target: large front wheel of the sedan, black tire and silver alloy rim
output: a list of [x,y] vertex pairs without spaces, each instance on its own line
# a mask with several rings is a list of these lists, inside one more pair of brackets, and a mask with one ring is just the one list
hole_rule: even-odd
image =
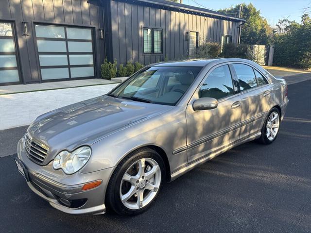
[[120,162],[112,174],[105,204],[117,214],[138,215],[157,198],[164,178],[164,162],[155,150],[135,150]]

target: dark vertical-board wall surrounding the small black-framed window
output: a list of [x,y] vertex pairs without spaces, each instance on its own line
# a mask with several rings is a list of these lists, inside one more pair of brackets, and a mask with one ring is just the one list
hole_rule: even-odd
[[[197,16],[165,9],[110,1],[112,52],[118,63],[139,61],[143,64],[182,59],[188,56],[185,33],[199,32],[199,40],[220,42],[221,35],[232,35],[232,42],[238,42],[239,22],[219,18]],[[163,50],[159,54],[143,54],[142,28],[163,29]]]

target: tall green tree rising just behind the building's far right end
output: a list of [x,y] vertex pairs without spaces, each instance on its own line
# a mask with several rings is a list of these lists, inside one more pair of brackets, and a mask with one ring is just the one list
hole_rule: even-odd
[[[240,4],[219,10],[226,14],[239,16]],[[267,45],[273,37],[273,31],[267,20],[260,16],[260,11],[252,3],[241,4],[241,18],[245,19],[242,25],[241,42],[249,45]]]

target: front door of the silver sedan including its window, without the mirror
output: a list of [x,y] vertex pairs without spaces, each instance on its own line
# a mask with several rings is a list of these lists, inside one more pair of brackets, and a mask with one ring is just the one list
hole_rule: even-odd
[[194,162],[212,152],[222,150],[239,140],[241,98],[233,88],[228,65],[214,68],[196,90],[193,100],[211,97],[218,100],[212,110],[194,111],[187,106],[188,162]]

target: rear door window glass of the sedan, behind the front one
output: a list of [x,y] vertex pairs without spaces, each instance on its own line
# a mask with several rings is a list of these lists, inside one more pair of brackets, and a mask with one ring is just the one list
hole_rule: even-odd
[[252,67],[243,64],[233,64],[238,76],[241,91],[257,87],[256,77]]

